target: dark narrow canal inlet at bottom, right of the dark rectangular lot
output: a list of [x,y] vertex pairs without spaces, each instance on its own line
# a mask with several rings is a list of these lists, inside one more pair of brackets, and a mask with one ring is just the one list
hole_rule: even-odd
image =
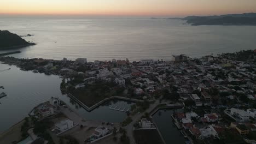
[[153,116],[153,120],[158,125],[159,131],[162,134],[166,143],[185,143],[183,135],[172,122],[172,113],[174,110],[159,110]]

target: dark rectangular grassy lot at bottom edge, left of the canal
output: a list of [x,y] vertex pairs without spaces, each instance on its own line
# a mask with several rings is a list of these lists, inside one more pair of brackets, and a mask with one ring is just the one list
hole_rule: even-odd
[[134,131],[135,141],[139,144],[163,144],[157,130],[135,130]]

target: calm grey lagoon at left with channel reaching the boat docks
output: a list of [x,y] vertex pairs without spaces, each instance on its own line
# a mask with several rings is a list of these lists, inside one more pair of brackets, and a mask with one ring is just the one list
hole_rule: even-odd
[[22,71],[15,66],[0,63],[0,70],[8,68],[11,69],[0,73],[0,86],[5,88],[0,89],[0,92],[7,93],[7,97],[0,99],[0,133],[21,121],[34,106],[51,97],[61,98],[85,119],[104,122],[121,122],[126,117],[125,112],[110,110],[109,106],[130,107],[132,105],[127,101],[112,100],[88,112],[77,104],[70,103],[71,100],[61,94],[61,79],[58,76],[35,74],[32,71]]

